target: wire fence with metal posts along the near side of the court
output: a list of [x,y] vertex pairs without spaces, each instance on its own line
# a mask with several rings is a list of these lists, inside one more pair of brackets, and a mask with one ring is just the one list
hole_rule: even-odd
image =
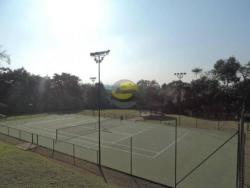
[[[242,166],[244,166],[244,159],[242,158],[242,156],[244,156],[244,130],[242,130],[241,127],[243,127],[244,129],[244,120],[241,120],[238,124],[238,130],[236,130],[234,133],[232,133],[229,137],[227,137],[226,139],[223,140],[223,142],[221,142],[219,145],[217,145],[216,148],[213,148],[210,150],[209,153],[206,153],[206,155],[204,155],[202,158],[202,160],[199,163],[196,163],[195,165],[192,166],[192,168],[188,168],[186,170],[184,170],[182,173],[180,173],[178,171],[178,167],[181,164],[178,164],[180,159],[182,158],[182,153],[180,152],[180,150],[182,150],[183,146],[178,145],[178,123],[177,123],[177,119],[175,121],[175,125],[174,125],[174,154],[173,154],[173,160],[171,161],[174,165],[173,167],[173,171],[171,171],[172,175],[171,175],[171,179],[172,182],[170,181],[169,185],[166,185],[162,182],[158,182],[156,179],[154,178],[150,178],[148,176],[144,176],[144,174],[140,174],[141,170],[138,170],[138,167],[136,167],[136,163],[138,162],[138,160],[135,160],[135,156],[133,155],[134,152],[134,148],[133,148],[133,137],[128,138],[128,142],[129,142],[129,149],[128,152],[116,152],[116,153],[112,153],[112,155],[108,155],[108,150],[106,149],[106,156],[104,155],[103,159],[101,159],[103,162],[103,166],[117,170],[119,172],[128,174],[128,175],[132,175],[138,178],[142,178],[145,180],[148,180],[150,182],[154,182],[156,184],[165,186],[165,187],[174,187],[174,188],[182,188],[182,187],[190,187],[189,184],[193,183],[194,181],[197,180],[197,173],[199,174],[199,176],[204,176],[201,179],[203,181],[211,181],[211,179],[209,179],[208,174],[204,173],[206,172],[207,169],[209,169],[209,172],[211,173],[211,171],[213,171],[212,168],[214,168],[214,166],[209,166],[209,164],[211,163],[211,159],[212,158],[216,158],[216,154],[218,154],[219,152],[222,152],[223,150],[225,150],[225,148],[227,149],[228,144],[230,142],[236,142],[237,143],[237,149],[235,150],[235,155],[237,155],[237,168],[235,169],[235,187],[237,188],[241,188],[239,186],[239,182],[244,181],[244,178],[242,176],[240,176],[240,174],[242,173]],[[17,128],[13,128],[13,127],[9,127],[6,125],[2,125],[0,124],[0,133],[8,135],[10,137],[14,137],[17,139],[20,139],[22,141],[26,141],[29,143],[33,143],[33,144],[37,144],[41,147],[50,149],[52,152],[52,156],[54,154],[54,152],[60,152],[66,155],[69,155],[70,157],[72,157],[74,164],[75,164],[75,159],[82,159],[82,160],[86,160],[88,162],[94,163],[94,164],[98,164],[98,158],[99,158],[99,151],[95,148],[92,147],[85,147],[82,146],[80,144],[73,144],[70,142],[66,142],[66,141],[60,141],[57,142],[56,139],[51,138],[51,137],[47,137],[47,136],[43,136],[43,135],[39,135],[36,133],[31,133],[28,131],[24,131],[21,129],[17,129]],[[243,134],[243,135],[242,135]],[[195,141],[195,139],[194,139]],[[185,145],[184,145],[185,146]],[[113,145],[112,147],[116,147],[115,145]],[[117,145],[117,148],[119,149],[121,146]],[[112,149],[112,148],[110,148]],[[225,154],[225,153],[223,153]],[[222,154],[222,156],[223,156]],[[120,160],[116,160],[116,162],[114,162],[114,157],[115,158],[119,158],[125,156],[126,160],[120,161]],[[221,155],[220,155],[221,156]],[[185,156],[184,156],[185,158]],[[113,162],[110,163],[110,160],[112,160]],[[233,160],[233,158],[232,158]],[[188,162],[188,161],[186,161]],[[209,163],[210,162],[210,163]],[[123,165],[121,165],[121,163]],[[181,162],[180,162],[181,163]],[[148,164],[150,165],[150,164]],[[214,164],[214,165],[218,165],[218,164]],[[242,168],[241,168],[242,167]],[[201,170],[203,169],[203,170]],[[205,169],[205,170],[204,170]],[[142,169],[143,170],[143,169]],[[199,172],[200,171],[200,172]],[[200,177],[199,177],[200,178]],[[211,177],[210,177],[211,178]],[[220,177],[217,177],[218,179]],[[229,177],[231,178],[231,177]],[[243,179],[242,179],[243,178]],[[205,180],[204,180],[205,179]],[[228,178],[226,178],[228,179]],[[201,181],[201,180],[197,180],[197,181]],[[203,182],[204,183],[204,182]],[[234,186],[233,186],[234,187]]]

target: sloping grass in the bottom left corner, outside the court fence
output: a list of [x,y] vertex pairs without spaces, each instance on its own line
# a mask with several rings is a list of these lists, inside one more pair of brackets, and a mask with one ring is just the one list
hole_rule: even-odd
[[[103,179],[0,141],[0,187],[108,188]],[[112,186],[113,187],[113,186]]]

